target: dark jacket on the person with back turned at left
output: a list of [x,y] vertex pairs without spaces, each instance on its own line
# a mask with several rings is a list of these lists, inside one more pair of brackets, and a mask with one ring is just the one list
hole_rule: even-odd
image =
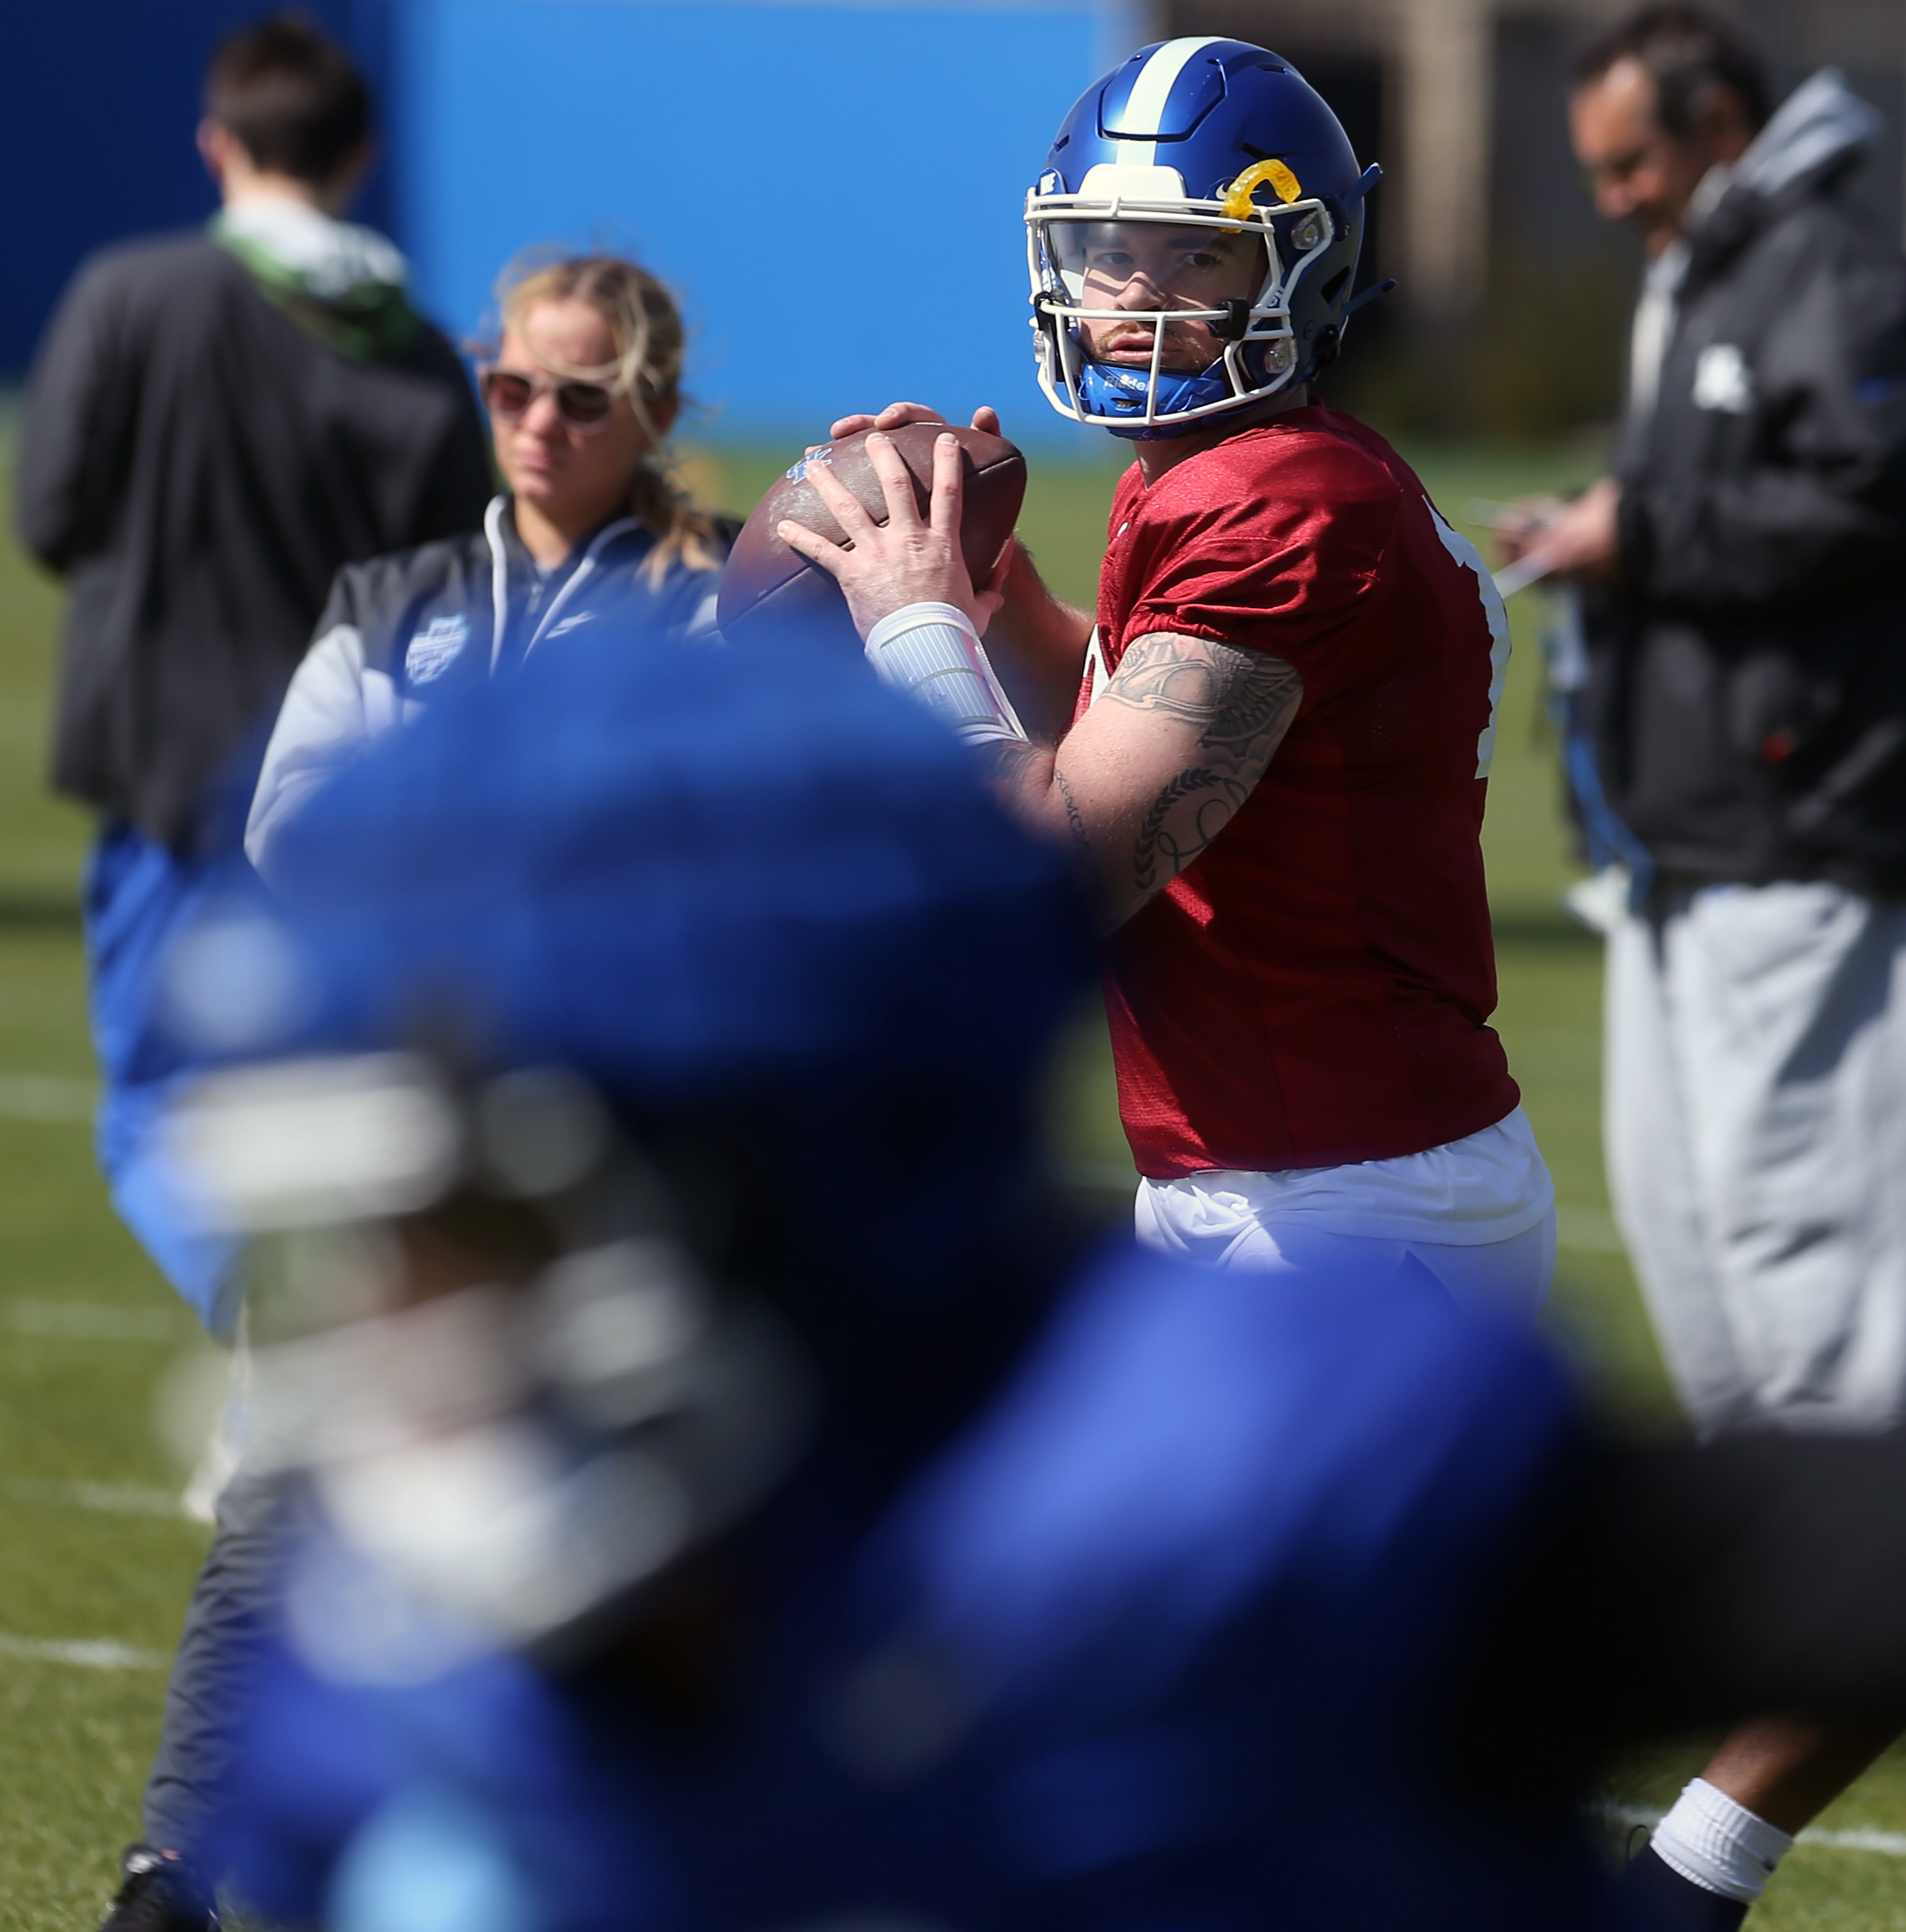
[[408,336],[346,354],[205,236],[79,272],[15,479],[21,537],[72,593],[60,790],[189,844],[215,781],[263,748],[338,568],[477,527],[470,383],[435,328]]

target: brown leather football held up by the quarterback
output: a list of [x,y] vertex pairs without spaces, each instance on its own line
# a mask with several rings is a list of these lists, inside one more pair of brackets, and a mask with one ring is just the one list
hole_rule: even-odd
[[[909,423],[905,429],[887,431],[912,475],[914,500],[922,516],[934,487],[934,439],[945,435],[947,427]],[[887,508],[880,477],[866,452],[868,435],[862,431],[841,437],[837,442],[822,444],[812,456],[802,456],[754,506],[721,574],[715,622],[723,636],[748,639],[800,628],[837,636],[843,643],[852,639],[847,603],[833,578],[791,551],[775,535],[775,526],[789,518],[833,543],[841,541],[841,526],[808,479],[816,464],[825,464],[866,506],[874,522],[885,524]],[[1026,460],[1003,437],[990,437],[980,429],[953,429],[953,435],[959,437],[965,469],[961,551],[972,582],[984,583],[1019,522],[1019,506],[1026,495]]]

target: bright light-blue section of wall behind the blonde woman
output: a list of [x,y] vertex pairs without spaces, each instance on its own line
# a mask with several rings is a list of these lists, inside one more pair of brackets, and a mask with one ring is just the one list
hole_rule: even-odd
[[1063,433],[1032,386],[1021,203],[1115,21],[1077,0],[416,0],[390,191],[418,290],[470,330],[514,249],[607,242],[684,298],[704,435],[820,433],[895,396]]

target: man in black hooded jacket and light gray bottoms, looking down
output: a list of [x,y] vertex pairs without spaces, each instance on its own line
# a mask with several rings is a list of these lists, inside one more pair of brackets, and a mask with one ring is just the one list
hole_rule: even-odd
[[[1775,108],[1734,29],[1653,6],[1570,126],[1649,265],[1612,473],[1508,549],[1581,599],[1616,1211],[1703,1434],[1896,1426],[1906,263],[1846,193],[1879,116],[1834,70]],[[1744,1725],[1635,1882],[1736,1924],[1881,1743]]]

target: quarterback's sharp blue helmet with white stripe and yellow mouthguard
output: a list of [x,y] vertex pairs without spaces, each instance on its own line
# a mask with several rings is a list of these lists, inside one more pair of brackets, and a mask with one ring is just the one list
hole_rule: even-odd
[[1378,174],[1262,46],[1141,48],[1079,99],[1026,195],[1046,400],[1158,439],[1307,383],[1343,340]]

